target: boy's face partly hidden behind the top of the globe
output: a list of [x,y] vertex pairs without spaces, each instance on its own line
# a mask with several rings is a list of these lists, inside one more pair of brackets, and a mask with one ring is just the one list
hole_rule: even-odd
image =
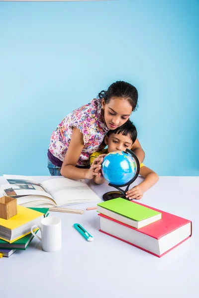
[[128,136],[123,136],[122,134],[110,134],[110,136],[105,136],[105,144],[108,146],[108,152],[111,151],[125,151],[127,148],[131,149],[133,142]]

